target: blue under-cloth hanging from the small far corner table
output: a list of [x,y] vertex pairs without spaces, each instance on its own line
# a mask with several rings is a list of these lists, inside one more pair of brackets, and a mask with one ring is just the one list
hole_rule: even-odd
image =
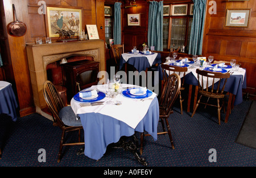
[[[133,65],[138,70],[138,72],[146,71],[147,68],[151,67],[150,63],[148,63],[147,57],[145,57],[145,56],[130,57],[129,60],[127,60],[127,62],[121,56],[119,69],[122,69],[122,67],[125,63]],[[158,55],[156,56],[154,63],[152,65],[161,64],[161,63],[162,63],[161,54],[158,53]]]

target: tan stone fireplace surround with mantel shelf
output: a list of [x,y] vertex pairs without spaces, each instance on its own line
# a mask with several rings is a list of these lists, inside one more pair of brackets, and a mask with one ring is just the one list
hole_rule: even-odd
[[100,71],[106,71],[104,40],[85,40],[68,43],[27,44],[28,67],[30,70],[36,112],[46,107],[43,84],[47,80],[47,64],[71,55],[93,56],[100,62]]

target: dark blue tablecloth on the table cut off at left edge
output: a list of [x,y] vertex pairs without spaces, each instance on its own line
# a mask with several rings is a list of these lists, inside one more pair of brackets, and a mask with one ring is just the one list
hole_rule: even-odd
[[[5,82],[5,81],[0,81]],[[9,83],[5,88],[0,90],[0,114],[7,114],[15,122],[17,119],[16,108],[18,104],[16,102],[13,88]]]

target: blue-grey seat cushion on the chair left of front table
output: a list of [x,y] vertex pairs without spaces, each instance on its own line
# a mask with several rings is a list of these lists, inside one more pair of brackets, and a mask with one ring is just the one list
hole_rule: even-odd
[[76,119],[76,114],[71,106],[65,106],[60,110],[59,117],[67,126],[82,126],[81,120]]

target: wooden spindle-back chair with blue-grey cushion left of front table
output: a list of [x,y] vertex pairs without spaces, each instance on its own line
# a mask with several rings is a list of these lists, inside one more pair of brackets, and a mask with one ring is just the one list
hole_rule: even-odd
[[[76,115],[73,112],[71,106],[64,106],[63,101],[61,100],[60,94],[57,92],[57,89],[52,84],[51,81],[44,82],[43,86],[44,100],[49,110],[52,113],[53,126],[59,126],[62,130],[61,140],[60,140],[60,150],[57,162],[60,162],[61,151],[63,146],[71,145],[84,145],[84,142],[80,142],[80,135],[82,130],[82,124],[80,119],[76,119]],[[69,131],[79,131],[79,142],[77,143],[63,143],[65,133]]]

